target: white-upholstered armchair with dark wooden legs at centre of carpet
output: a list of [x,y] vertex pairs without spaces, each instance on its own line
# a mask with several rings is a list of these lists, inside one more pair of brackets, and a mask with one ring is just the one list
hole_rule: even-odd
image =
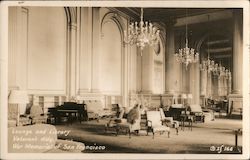
[[156,132],[160,132],[162,134],[163,132],[168,132],[168,137],[170,135],[170,128],[163,125],[160,111],[147,111],[147,134],[148,132],[153,132],[153,138],[154,134]]

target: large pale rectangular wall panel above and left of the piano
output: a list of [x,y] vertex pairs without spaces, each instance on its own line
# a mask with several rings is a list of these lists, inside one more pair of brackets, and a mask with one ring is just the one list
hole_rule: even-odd
[[29,8],[27,67],[29,90],[65,93],[66,33],[63,8]]

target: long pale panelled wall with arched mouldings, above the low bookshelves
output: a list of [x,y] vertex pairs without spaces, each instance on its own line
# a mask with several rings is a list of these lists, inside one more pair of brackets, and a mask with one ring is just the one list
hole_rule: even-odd
[[[23,10],[17,7],[13,11],[12,14],[17,15],[12,16],[10,22],[13,26],[10,57],[19,54],[22,60],[10,59],[10,84],[23,84],[19,86],[37,95],[71,95],[74,92],[97,98],[116,96],[121,99],[122,96],[123,104],[128,102],[129,93],[141,90],[160,93],[163,83],[157,82],[164,78],[163,64],[155,70],[153,67],[154,60],[163,62],[163,53],[154,58],[153,48],[145,47],[141,57],[136,46],[123,43],[128,17],[107,8],[84,7],[77,11],[78,21],[74,26],[68,26],[70,29],[75,27],[71,34],[62,7],[28,7]],[[19,21],[18,16],[22,17]],[[16,30],[26,32],[17,34]],[[77,38],[72,39],[72,34]],[[20,50],[22,52],[18,52]],[[76,56],[68,55],[73,54],[72,51]],[[142,71],[141,63],[138,63],[141,58]],[[72,70],[72,67],[76,69]],[[159,85],[157,89],[153,88],[154,83]],[[70,93],[66,93],[68,90]]]

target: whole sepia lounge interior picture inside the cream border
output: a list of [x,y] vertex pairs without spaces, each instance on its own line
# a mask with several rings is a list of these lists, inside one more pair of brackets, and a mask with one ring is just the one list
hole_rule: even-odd
[[8,152],[242,154],[243,13],[9,6]]

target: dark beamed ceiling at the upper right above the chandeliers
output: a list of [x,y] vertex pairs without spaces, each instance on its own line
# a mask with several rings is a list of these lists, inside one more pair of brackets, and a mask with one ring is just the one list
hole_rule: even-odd
[[[117,10],[139,21],[141,8],[119,7]],[[207,43],[210,44],[210,56],[217,62],[231,68],[232,61],[232,17],[231,8],[143,8],[144,20],[168,25],[174,22],[176,34],[185,36],[188,24],[191,38],[201,39],[208,32],[210,40],[202,45],[202,57],[207,57]],[[208,18],[209,17],[209,18]],[[134,21],[132,20],[132,21]],[[227,34],[223,36],[222,32]],[[225,32],[226,31],[226,32]],[[218,33],[218,34],[217,34]],[[178,35],[176,35],[178,37]],[[217,37],[217,38],[216,38]]]

